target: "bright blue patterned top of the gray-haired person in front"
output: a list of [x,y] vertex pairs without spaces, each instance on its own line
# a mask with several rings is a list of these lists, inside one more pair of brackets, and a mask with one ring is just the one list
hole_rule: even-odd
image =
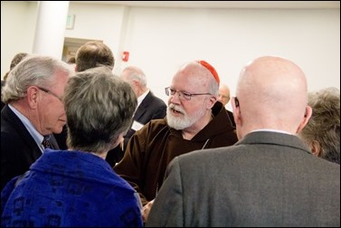
[[45,149],[1,193],[1,226],[143,227],[136,191],[100,157]]

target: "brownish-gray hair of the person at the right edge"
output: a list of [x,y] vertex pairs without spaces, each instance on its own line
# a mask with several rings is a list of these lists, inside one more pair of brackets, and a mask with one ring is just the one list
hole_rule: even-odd
[[313,113],[300,138],[307,144],[316,140],[319,157],[340,164],[340,90],[329,87],[308,93]]

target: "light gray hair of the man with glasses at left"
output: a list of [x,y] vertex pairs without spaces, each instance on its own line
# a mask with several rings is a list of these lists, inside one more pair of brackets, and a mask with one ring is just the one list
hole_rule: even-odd
[[50,56],[28,55],[9,72],[1,99],[4,103],[21,100],[26,96],[30,86],[52,86],[55,71],[73,73],[71,66],[66,62]]

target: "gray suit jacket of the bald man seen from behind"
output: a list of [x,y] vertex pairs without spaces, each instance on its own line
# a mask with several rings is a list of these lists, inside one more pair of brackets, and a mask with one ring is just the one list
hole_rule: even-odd
[[170,163],[147,226],[340,226],[340,166],[301,141],[252,132]]

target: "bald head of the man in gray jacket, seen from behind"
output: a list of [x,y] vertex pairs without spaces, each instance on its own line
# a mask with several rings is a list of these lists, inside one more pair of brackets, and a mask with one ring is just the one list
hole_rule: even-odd
[[311,114],[307,93],[305,74],[294,62],[274,56],[252,61],[242,69],[236,90],[243,135],[260,128],[298,133]]

